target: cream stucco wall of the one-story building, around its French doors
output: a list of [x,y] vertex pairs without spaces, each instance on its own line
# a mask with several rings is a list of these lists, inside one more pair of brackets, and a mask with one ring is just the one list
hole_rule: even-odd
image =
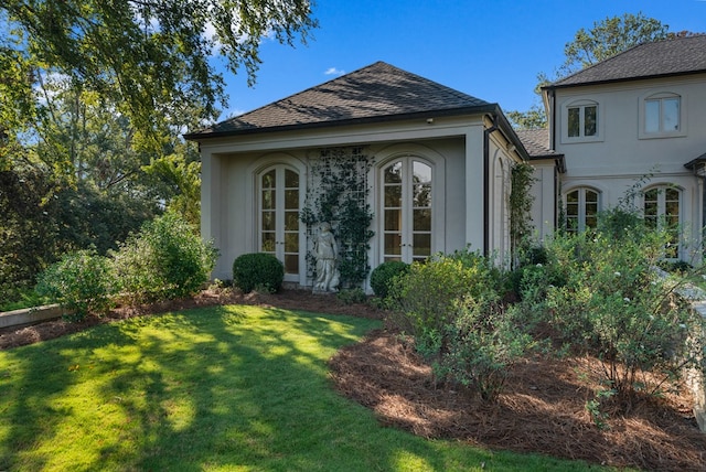
[[[335,131],[335,133],[333,132]],[[256,179],[258,169],[284,163],[300,172],[300,199],[306,197],[307,174],[312,159],[322,148],[365,146],[374,159],[368,175],[370,205],[375,215],[382,210],[381,168],[391,160],[415,155],[434,170],[432,253],[453,251],[471,245],[482,249],[483,232],[483,125],[481,117],[463,120],[438,119],[395,124],[383,132],[379,126],[314,131],[309,133],[268,133],[202,142],[202,236],[214,239],[221,258],[212,275],[231,279],[233,260],[240,254],[257,250]],[[395,139],[399,138],[399,139]],[[505,255],[509,250],[509,213],[505,210],[510,189],[512,150],[501,137],[491,137],[490,250]],[[382,226],[374,223],[376,236],[371,240],[370,262],[381,262]],[[301,229],[302,234],[303,228]],[[307,246],[306,235],[303,245]],[[303,255],[302,255],[303,259]],[[300,278],[301,285],[310,281]]]

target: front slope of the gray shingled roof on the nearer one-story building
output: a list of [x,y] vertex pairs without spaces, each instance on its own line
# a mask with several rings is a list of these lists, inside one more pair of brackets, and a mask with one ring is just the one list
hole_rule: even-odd
[[185,138],[395,119],[425,112],[454,115],[495,107],[495,104],[376,62]]

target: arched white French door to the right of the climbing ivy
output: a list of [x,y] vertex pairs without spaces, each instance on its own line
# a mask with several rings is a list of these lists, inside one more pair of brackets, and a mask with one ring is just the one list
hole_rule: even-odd
[[383,168],[383,261],[431,256],[431,167],[414,157]]

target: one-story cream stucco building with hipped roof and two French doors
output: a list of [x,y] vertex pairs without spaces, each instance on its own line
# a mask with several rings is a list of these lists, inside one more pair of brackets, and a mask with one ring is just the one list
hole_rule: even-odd
[[202,236],[221,250],[214,278],[265,251],[282,260],[286,281],[310,287],[322,223],[311,207],[325,214],[318,192],[331,183],[321,169],[345,161],[365,174],[346,199],[371,211],[367,267],[468,246],[509,257],[511,169],[528,154],[498,104],[377,62],[185,138],[201,150]]

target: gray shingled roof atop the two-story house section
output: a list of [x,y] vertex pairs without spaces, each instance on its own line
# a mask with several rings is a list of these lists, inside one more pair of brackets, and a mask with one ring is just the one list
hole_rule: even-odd
[[545,88],[706,73],[706,35],[644,43]]

